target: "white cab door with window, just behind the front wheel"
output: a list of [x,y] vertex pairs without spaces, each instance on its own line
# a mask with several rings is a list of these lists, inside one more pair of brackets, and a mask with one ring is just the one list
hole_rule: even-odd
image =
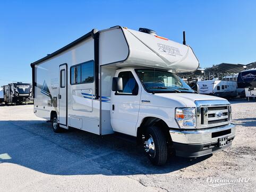
[[111,94],[111,125],[115,132],[136,136],[140,109],[140,89],[131,71],[120,72],[123,91]]

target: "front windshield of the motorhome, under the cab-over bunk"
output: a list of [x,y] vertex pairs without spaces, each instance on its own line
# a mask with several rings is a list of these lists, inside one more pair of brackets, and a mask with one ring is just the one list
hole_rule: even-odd
[[194,93],[190,86],[174,73],[154,69],[136,69],[135,71],[148,92]]

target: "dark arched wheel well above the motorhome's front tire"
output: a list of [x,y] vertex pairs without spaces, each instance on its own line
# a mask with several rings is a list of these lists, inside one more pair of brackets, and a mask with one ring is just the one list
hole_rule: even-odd
[[140,127],[137,129],[137,142],[141,143],[143,141],[142,135],[146,133],[147,127],[156,126],[165,134],[168,143],[172,141],[169,134],[169,127],[164,120],[156,117],[146,117],[143,119]]

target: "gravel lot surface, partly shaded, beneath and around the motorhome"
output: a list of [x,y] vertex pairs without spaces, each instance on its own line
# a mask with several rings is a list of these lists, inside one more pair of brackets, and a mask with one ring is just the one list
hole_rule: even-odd
[[[0,107],[0,191],[253,191],[256,102],[232,107],[231,147],[202,158],[173,157],[164,167],[153,167],[135,143],[76,129],[56,134],[31,105]],[[250,180],[210,186],[208,177]]]

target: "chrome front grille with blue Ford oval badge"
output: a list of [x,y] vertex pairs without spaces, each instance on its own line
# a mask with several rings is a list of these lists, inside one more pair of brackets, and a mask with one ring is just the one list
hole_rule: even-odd
[[197,128],[217,127],[231,123],[231,106],[226,100],[195,101]]

